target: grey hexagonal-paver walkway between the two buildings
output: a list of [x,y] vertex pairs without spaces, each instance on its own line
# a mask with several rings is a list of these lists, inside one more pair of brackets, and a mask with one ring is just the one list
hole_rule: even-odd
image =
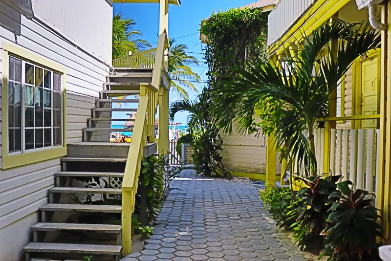
[[306,261],[278,232],[250,184],[183,171],[156,220],[145,250],[122,261]]

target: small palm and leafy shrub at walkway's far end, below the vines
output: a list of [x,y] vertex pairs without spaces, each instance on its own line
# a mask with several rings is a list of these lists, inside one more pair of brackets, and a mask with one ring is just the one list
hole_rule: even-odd
[[210,97],[208,89],[203,88],[195,102],[189,100],[173,102],[170,118],[173,120],[175,113],[180,111],[189,112],[188,126],[192,135],[193,162],[197,174],[231,178],[231,174],[222,164],[219,153],[222,150],[222,139],[218,134],[216,123],[212,121],[209,114]]

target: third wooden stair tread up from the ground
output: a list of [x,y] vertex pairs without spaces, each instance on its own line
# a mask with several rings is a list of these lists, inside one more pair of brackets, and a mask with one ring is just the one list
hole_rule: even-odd
[[44,204],[41,211],[69,211],[69,212],[102,212],[102,213],[121,213],[122,206],[112,205],[84,205],[84,204]]

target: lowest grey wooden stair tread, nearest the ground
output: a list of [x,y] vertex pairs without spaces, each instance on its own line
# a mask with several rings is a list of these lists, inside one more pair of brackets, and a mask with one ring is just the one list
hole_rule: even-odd
[[23,247],[23,250],[27,252],[41,253],[74,253],[117,256],[121,254],[122,246],[62,243],[29,243],[28,245]]

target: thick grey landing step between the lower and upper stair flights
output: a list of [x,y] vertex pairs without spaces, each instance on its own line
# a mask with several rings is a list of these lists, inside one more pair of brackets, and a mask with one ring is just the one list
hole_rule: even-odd
[[[115,129],[117,130],[117,129]],[[131,143],[127,142],[78,142],[67,144],[70,157],[127,158]]]

